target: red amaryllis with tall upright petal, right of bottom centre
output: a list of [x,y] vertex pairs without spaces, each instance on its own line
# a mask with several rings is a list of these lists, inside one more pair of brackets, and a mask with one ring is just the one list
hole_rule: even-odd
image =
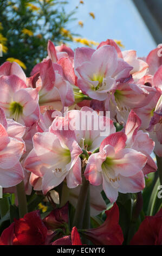
[[105,211],[106,221],[98,228],[85,229],[82,234],[94,245],[122,245],[124,237],[119,225],[119,209],[114,203],[110,210]]

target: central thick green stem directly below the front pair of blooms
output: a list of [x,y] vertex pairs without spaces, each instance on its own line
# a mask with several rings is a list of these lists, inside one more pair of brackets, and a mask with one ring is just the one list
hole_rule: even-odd
[[87,181],[85,176],[83,176],[82,186],[80,189],[79,198],[77,200],[76,211],[75,211],[74,222],[73,222],[73,227],[77,227],[78,229],[82,229],[88,191],[89,191],[89,181]]

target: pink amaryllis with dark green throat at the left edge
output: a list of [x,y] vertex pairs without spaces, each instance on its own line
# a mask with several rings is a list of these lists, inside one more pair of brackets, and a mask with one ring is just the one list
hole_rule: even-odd
[[1,76],[0,84],[0,107],[6,117],[25,126],[35,123],[40,116],[37,90],[27,88],[15,75]]

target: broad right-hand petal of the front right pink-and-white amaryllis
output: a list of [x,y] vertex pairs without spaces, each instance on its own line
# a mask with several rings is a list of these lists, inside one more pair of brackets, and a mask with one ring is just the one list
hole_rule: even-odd
[[115,175],[133,176],[140,172],[147,162],[147,156],[134,149],[121,149],[113,160]]

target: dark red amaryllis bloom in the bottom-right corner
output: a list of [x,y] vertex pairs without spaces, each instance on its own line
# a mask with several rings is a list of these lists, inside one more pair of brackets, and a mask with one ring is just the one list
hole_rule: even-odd
[[145,217],[131,245],[162,245],[162,208],[155,216]]

